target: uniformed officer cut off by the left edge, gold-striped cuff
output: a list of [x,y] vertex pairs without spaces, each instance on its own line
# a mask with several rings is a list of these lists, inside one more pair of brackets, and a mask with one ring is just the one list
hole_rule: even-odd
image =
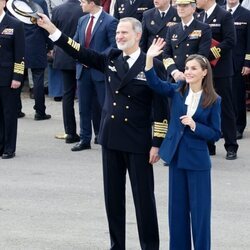
[[24,29],[20,21],[4,12],[0,1],[0,156],[15,156],[18,88],[24,75]]

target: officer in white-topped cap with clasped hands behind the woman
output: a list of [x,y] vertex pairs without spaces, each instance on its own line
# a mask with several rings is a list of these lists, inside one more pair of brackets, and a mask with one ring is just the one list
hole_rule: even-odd
[[195,0],[177,0],[176,4],[181,22],[169,27],[163,52],[163,63],[170,81],[185,79],[183,72],[189,55],[209,55],[212,37],[209,25],[194,19]]

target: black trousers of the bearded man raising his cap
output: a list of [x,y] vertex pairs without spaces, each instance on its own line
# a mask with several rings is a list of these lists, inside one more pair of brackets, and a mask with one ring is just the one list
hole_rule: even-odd
[[159,249],[154,196],[154,176],[149,154],[134,154],[102,148],[104,195],[112,250],[125,250],[125,184],[128,171],[140,245],[142,250]]

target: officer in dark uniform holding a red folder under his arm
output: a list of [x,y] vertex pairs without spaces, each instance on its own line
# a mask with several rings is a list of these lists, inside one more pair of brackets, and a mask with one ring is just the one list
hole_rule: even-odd
[[[213,65],[213,79],[217,93],[221,96],[221,130],[225,139],[226,159],[237,158],[236,119],[232,100],[233,58],[236,32],[231,13],[216,4],[215,0],[197,0],[197,7],[204,9],[197,19],[210,25],[213,45],[208,59]],[[217,62],[217,63],[216,63]],[[210,155],[216,154],[213,142],[208,144]]]

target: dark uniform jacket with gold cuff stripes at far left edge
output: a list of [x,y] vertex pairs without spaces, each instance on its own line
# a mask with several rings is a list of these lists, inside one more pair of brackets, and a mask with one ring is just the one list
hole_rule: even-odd
[[24,48],[23,24],[5,14],[0,23],[0,86],[23,80]]

